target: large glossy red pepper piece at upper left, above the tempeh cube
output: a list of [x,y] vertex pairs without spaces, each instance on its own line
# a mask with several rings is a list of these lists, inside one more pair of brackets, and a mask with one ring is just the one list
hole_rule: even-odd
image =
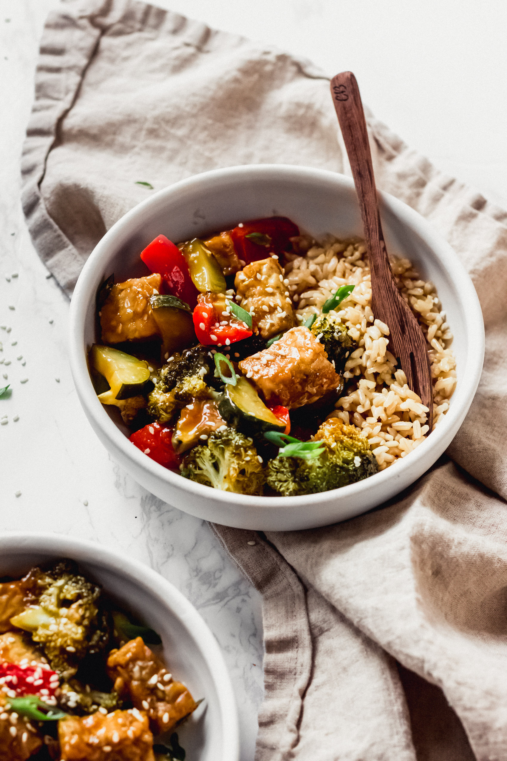
[[198,290],[190,277],[185,256],[165,235],[158,235],[141,253],[141,259],[151,272],[162,276],[168,293],[181,298],[193,309]]

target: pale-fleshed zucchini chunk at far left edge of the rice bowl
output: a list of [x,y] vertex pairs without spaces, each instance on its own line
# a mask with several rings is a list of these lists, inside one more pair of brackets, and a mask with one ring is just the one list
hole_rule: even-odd
[[111,346],[94,343],[90,349],[90,365],[109,384],[109,390],[98,396],[103,404],[116,404],[131,396],[140,396],[154,387],[147,362]]

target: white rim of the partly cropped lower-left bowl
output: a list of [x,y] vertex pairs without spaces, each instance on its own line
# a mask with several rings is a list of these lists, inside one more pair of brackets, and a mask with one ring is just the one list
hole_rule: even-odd
[[239,759],[239,719],[233,686],[222,652],[211,629],[198,610],[176,587],[143,562],[123,555],[115,549],[90,540],[74,539],[57,533],[5,532],[0,534],[0,555],[5,552],[46,552],[70,557],[76,562],[90,562],[107,571],[128,578],[142,591],[156,597],[162,606],[169,608],[192,637],[208,665],[217,690],[217,703],[222,728],[223,761]]

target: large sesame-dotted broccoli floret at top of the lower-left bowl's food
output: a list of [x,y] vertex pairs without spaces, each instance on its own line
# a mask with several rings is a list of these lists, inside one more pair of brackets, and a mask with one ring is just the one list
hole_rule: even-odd
[[99,602],[101,588],[78,575],[72,562],[60,562],[47,571],[34,568],[30,576],[36,581],[36,597],[11,624],[30,632],[52,669],[68,680],[87,654],[103,652],[109,642],[108,618]]

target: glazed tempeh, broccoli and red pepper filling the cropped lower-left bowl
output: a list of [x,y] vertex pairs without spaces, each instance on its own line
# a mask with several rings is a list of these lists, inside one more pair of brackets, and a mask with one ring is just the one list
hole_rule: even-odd
[[169,733],[198,702],[160,642],[71,560],[2,579],[0,759],[183,761]]

